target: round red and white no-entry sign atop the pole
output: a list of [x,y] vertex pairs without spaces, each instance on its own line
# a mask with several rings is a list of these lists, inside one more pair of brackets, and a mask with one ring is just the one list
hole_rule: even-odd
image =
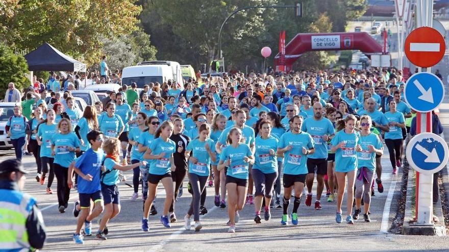
[[407,59],[418,67],[431,67],[444,57],[446,44],[443,36],[432,27],[413,30],[404,44]]

